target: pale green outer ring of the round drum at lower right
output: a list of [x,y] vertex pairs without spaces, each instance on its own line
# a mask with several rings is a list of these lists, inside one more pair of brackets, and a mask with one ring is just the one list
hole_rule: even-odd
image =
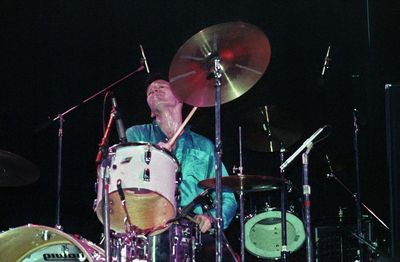
[[[258,222],[265,218],[281,218],[281,211],[264,211],[260,214],[256,214],[252,218],[250,218],[246,223],[245,223],[245,246],[246,249],[257,256],[262,256],[265,258],[276,258],[281,255],[280,251],[266,251],[263,250],[253,244],[249,240],[250,238],[250,230],[251,228],[256,225]],[[294,228],[296,229],[296,235],[298,238],[293,241],[291,244],[288,244],[288,250],[290,252],[294,252],[298,250],[303,242],[305,241],[306,235],[305,235],[305,230],[304,230],[304,224],[303,222],[295,215],[286,212],[286,222],[291,223]]]

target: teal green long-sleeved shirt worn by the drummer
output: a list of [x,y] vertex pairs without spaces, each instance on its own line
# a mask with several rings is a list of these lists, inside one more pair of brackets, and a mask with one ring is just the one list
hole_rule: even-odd
[[[126,130],[128,142],[167,142],[167,137],[161,128],[152,124],[132,126]],[[215,148],[214,144],[204,136],[196,134],[189,128],[185,128],[183,134],[176,142],[176,149],[172,154],[181,165],[182,181],[179,184],[181,194],[178,206],[188,205],[196,196],[204,191],[198,182],[215,178]],[[222,175],[228,176],[228,172],[222,165]],[[215,197],[215,194],[213,194]],[[227,228],[236,214],[237,203],[233,193],[222,193],[222,219],[224,229]],[[196,207],[194,213],[201,214],[201,207]],[[211,213],[215,216],[215,210]]]

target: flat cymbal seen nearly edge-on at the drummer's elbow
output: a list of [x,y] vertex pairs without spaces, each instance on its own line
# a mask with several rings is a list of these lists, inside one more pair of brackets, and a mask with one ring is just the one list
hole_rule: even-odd
[[[257,192],[278,189],[280,185],[288,183],[287,180],[269,176],[224,176],[221,178],[222,190],[229,192]],[[209,178],[198,183],[203,188],[215,188],[216,179]]]

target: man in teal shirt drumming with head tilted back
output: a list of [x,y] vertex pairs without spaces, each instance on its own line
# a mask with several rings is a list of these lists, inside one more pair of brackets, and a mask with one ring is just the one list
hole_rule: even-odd
[[[147,81],[147,104],[151,110],[153,122],[136,125],[127,129],[128,142],[145,141],[157,144],[169,150],[179,161],[182,169],[182,181],[179,184],[179,207],[188,205],[196,196],[203,192],[198,182],[215,177],[215,150],[213,143],[193,131],[189,127],[180,134],[176,143],[169,146],[168,140],[174,136],[182,124],[183,103],[175,97],[167,78],[161,74],[149,77]],[[222,175],[227,176],[222,165]],[[222,219],[226,229],[235,216],[237,203],[233,193],[222,194]],[[203,214],[202,208],[194,208],[194,218],[201,230],[207,232],[213,224],[213,218]],[[215,217],[215,210],[211,211]]]

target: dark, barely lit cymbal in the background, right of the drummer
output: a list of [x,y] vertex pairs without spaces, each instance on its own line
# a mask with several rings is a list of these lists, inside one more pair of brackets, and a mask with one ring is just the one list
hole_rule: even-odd
[[258,152],[276,152],[296,143],[302,134],[301,119],[295,110],[282,106],[261,106],[241,119],[243,146]]

